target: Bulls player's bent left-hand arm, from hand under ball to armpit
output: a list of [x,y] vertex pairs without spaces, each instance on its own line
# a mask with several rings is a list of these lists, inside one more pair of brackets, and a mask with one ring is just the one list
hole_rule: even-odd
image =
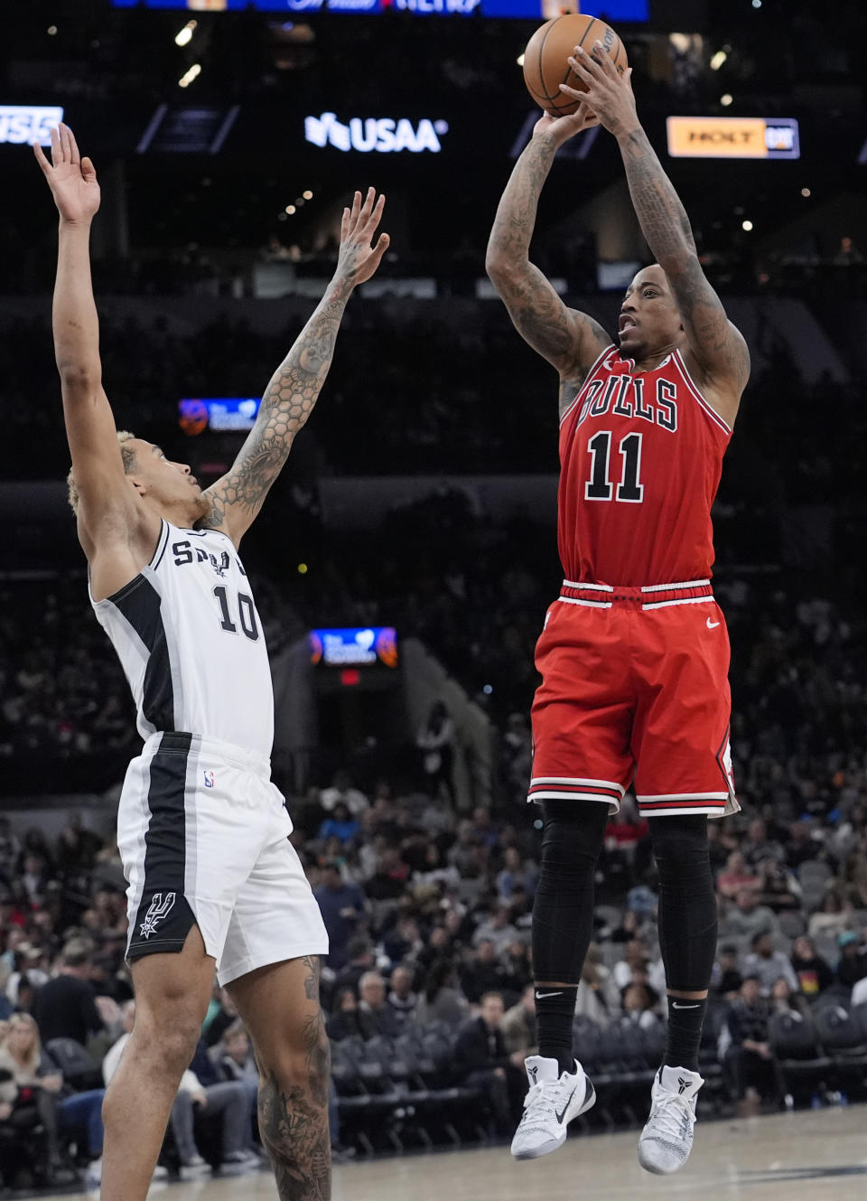
[[515,163],[488,241],[485,267],[521,337],[555,366],[561,380],[561,412],[611,339],[586,313],[567,309],[538,267],[530,262],[542,187],[558,148],[598,124],[579,109],[570,116],[543,116]]

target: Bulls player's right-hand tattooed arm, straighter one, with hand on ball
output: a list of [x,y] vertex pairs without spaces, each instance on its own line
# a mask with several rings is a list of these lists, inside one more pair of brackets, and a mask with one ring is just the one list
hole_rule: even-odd
[[[597,48],[602,50],[598,43]],[[723,407],[730,413],[734,405],[736,411],[749,377],[747,343],[705,277],[689,219],[638,119],[632,70],[620,76],[608,54],[599,53],[597,60],[580,47],[569,65],[587,84],[587,103],[617,138],[641,233],[671,285],[699,372]],[[561,88],[572,96],[585,95]]]

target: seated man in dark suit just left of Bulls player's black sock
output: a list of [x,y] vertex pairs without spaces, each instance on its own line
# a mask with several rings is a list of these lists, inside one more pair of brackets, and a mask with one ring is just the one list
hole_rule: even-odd
[[478,1017],[464,1023],[454,1050],[458,1078],[467,1088],[482,1089],[500,1135],[512,1133],[526,1089],[524,1052],[508,1053],[500,1029],[502,1020],[502,996],[486,992]]

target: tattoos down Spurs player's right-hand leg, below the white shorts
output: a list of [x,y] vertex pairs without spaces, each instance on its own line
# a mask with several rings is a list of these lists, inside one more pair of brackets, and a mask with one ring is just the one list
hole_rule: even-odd
[[305,956],[304,994],[315,1012],[304,1018],[307,1085],[281,1087],[273,1071],[259,1083],[259,1134],[274,1165],[280,1201],[329,1201],[331,1159],[328,1130],[330,1056],[319,1009],[319,958]]

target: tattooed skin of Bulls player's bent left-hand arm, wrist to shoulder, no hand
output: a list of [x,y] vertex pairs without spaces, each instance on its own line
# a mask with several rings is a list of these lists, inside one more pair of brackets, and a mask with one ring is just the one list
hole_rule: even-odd
[[534,138],[515,163],[497,207],[488,243],[488,264],[515,329],[557,370],[572,374],[580,372],[576,360],[585,323],[599,346],[609,339],[592,318],[567,309],[528,258],[539,196],[554,154],[554,147]]

